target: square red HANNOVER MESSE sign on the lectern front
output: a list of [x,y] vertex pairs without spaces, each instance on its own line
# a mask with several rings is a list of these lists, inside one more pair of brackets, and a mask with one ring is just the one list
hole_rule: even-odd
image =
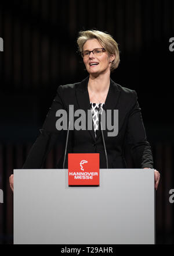
[[68,154],[69,185],[99,185],[99,153]]

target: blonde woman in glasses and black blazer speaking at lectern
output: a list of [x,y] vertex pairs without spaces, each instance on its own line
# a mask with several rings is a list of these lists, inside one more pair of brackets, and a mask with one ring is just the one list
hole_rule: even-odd
[[[70,129],[67,153],[100,153],[100,168],[126,168],[126,142],[131,148],[135,168],[153,168],[153,156],[146,139],[136,92],[110,79],[110,72],[119,64],[118,44],[109,34],[97,30],[81,31],[77,43],[89,77],[79,83],[58,87],[41,134],[32,146],[23,169],[41,168],[46,155],[60,138],[64,138],[62,143],[66,144],[67,132],[59,131],[56,125],[57,111],[66,110],[69,115],[70,106],[74,111],[84,110],[86,116],[91,110],[93,128],[90,130],[86,125],[85,129]],[[102,134],[99,117],[103,110],[112,110],[111,120],[115,117],[114,110],[118,110],[117,136],[108,136],[108,127]],[[67,167],[67,157],[65,164],[63,160],[64,153],[57,168]],[[155,170],[156,190],[159,180],[160,173]],[[13,190],[13,175],[10,176],[10,187]]]

